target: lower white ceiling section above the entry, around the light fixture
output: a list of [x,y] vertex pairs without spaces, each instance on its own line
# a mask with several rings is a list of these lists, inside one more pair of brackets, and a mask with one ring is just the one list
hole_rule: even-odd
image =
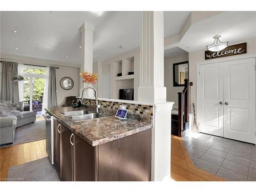
[[226,11],[192,25],[185,33],[179,46],[188,51],[205,49],[221,35],[225,42],[242,41],[256,37],[256,11]]

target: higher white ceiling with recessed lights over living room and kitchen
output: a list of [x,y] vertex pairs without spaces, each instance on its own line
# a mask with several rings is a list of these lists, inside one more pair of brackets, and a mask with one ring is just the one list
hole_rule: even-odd
[[[189,13],[165,11],[164,36],[179,33]],[[84,22],[95,26],[94,61],[110,58],[140,46],[140,12],[2,11],[1,52],[79,66],[79,27]],[[13,30],[18,33],[13,33]],[[119,48],[121,45],[124,49]]]

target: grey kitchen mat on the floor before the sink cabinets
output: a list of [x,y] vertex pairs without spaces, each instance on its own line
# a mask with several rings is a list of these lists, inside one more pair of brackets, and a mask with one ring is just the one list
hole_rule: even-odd
[[7,178],[8,181],[59,181],[48,157],[10,167]]

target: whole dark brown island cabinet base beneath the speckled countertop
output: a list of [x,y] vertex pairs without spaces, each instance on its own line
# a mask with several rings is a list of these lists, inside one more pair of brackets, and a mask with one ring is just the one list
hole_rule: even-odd
[[92,146],[55,119],[54,164],[63,181],[151,181],[151,129]]

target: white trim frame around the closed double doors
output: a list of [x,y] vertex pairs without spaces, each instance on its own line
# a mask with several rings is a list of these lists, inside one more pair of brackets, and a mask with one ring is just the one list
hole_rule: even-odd
[[[248,58],[254,58],[254,60],[255,60],[255,71],[256,71],[256,54],[222,57],[222,58],[213,59],[212,61],[211,60],[205,60],[203,62],[197,62],[197,104],[196,104],[196,110],[197,110],[196,118],[197,118],[197,120],[199,119],[199,70],[200,70],[200,66],[201,65],[207,65],[207,64],[210,64],[210,63],[225,62],[225,61],[240,60],[240,59],[248,59]],[[255,81],[256,81],[255,71],[254,71],[254,75],[255,75]],[[256,87],[256,82],[255,82],[255,87]],[[256,100],[256,93],[255,93],[255,100]],[[256,102],[255,102],[254,107],[256,109]],[[256,145],[256,126],[255,126],[255,145]]]

